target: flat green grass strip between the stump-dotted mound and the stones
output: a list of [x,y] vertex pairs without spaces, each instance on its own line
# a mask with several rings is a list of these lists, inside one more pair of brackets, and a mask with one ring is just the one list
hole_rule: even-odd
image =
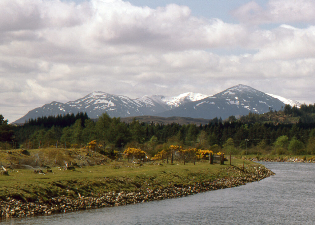
[[[229,164],[229,162],[226,164]],[[243,160],[232,160],[233,166],[243,168]],[[253,169],[256,163],[246,161]],[[216,178],[239,176],[240,170],[230,165],[209,165],[198,162],[183,164],[144,164],[108,162],[106,165],[85,166],[75,170],[52,168],[53,173],[35,174],[33,170],[8,170],[9,176],[0,175],[0,198],[14,197],[24,201],[43,200],[60,195],[93,196],[106,192],[136,192],[141,188],[161,188],[189,185]],[[45,170],[44,170],[45,172]]]

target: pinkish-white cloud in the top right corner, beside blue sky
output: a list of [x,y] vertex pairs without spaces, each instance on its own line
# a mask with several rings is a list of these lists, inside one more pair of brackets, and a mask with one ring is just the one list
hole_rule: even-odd
[[233,15],[249,24],[314,22],[314,9],[312,0],[270,0],[266,8],[251,1],[235,9]]

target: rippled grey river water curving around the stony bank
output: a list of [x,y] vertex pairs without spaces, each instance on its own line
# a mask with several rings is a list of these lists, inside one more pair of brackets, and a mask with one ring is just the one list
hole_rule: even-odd
[[315,163],[262,164],[277,175],[182,198],[2,224],[315,224]]

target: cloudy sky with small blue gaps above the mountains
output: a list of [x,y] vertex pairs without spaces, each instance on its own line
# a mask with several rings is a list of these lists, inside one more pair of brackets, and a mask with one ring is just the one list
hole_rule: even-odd
[[0,114],[94,92],[315,103],[313,0],[1,0]]

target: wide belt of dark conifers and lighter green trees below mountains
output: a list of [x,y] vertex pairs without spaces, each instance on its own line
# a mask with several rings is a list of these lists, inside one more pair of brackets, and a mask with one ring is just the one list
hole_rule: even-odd
[[206,125],[125,123],[104,113],[92,120],[86,113],[44,116],[24,125],[9,125],[0,115],[0,149],[84,148],[94,141],[95,150],[112,155],[139,148],[153,157],[170,145],[226,154],[315,154],[315,104],[301,108],[285,105],[281,111]]

